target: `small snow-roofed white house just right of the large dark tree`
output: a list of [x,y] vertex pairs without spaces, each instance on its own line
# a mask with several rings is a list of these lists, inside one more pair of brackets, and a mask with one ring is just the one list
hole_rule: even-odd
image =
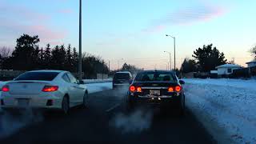
[[229,75],[233,73],[233,70],[237,70],[240,68],[242,67],[234,64],[225,64],[221,66],[216,66],[216,69],[218,70],[218,75]]

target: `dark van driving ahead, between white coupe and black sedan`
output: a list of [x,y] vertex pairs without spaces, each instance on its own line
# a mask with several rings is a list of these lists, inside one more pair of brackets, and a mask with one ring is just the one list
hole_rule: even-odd
[[122,86],[129,86],[132,82],[133,76],[129,71],[120,71],[114,74],[113,89]]

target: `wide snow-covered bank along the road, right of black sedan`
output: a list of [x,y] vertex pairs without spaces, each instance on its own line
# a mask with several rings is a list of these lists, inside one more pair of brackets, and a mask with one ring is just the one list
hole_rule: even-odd
[[186,106],[220,143],[256,143],[256,80],[185,79]]

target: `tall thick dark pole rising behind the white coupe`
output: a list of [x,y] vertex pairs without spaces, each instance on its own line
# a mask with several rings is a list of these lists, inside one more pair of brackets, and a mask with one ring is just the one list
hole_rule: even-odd
[[82,0],[79,0],[79,60],[78,60],[79,81],[82,81]]

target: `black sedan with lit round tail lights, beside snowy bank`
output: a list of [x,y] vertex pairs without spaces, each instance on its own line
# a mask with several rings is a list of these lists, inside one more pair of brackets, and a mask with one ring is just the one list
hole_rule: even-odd
[[142,104],[172,107],[183,114],[185,95],[182,84],[185,82],[178,80],[173,71],[142,71],[130,85],[127,106],[129,109]]

